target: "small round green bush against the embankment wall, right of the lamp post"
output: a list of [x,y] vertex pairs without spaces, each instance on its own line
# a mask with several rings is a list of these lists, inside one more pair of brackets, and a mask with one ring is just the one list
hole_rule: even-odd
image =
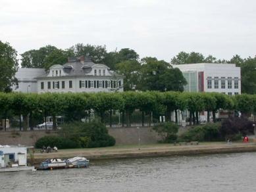
[[173,122],[165,122],[158,124],[152,128],[153,131],[157,132],[161,136],[161,142],[172,143],[177,139],[178,125]]

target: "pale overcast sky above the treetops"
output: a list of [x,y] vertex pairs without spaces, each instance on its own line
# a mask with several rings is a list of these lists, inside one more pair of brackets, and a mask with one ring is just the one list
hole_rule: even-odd
[[53,45],[106,45],[170,60],[181,51],[256,55],[255,0],[1,0],[0,41],[18,55]]

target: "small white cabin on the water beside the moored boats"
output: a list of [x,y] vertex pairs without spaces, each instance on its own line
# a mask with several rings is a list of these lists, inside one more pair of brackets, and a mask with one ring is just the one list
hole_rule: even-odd
[[26,165],[27,147],[0,145],[0,168]]

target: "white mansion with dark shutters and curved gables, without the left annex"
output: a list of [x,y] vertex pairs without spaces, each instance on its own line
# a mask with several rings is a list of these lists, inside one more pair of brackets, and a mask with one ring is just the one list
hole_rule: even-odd
[[83,57],[70,59],[64,65],[55,64],[37,80],[38,93],[123,91],[124,84],[124,76],[111,72],[104,64],[95,64]]

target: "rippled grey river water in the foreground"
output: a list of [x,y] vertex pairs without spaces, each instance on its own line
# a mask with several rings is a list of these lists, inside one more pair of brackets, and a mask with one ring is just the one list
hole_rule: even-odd
[[89,168],[0,173],[0,191],[256,191],[256,153],[91,160]]

